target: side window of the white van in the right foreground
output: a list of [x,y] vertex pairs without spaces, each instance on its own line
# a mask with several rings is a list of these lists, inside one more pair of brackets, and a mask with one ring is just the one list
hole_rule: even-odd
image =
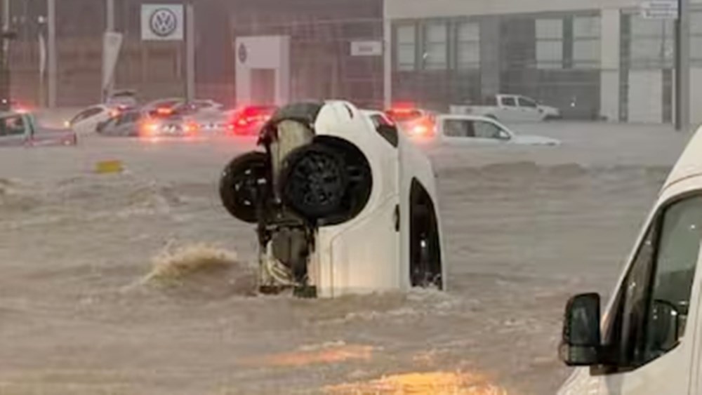
[[621,370],[643,366],[682,339],[702,238],[702,196],[654,220],[619,290],[604,345]]

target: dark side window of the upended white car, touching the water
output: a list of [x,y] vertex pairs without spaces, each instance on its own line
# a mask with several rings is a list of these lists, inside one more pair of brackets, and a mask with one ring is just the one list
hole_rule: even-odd
[[410,282],[444,288],[441,240],[434,201],[415,178],[409,192]]

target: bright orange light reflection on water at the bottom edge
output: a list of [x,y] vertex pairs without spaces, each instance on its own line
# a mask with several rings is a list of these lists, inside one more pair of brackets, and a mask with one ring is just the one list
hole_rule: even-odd
[[403,373],[370,382],[326,387],[327,394],[507,395],[484,375],[461,372]]

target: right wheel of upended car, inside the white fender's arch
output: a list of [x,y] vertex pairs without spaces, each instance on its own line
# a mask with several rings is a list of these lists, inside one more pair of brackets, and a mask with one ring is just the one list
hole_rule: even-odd
[[343,154],[333,147],[312,143],[286,156],[280,173],[283,203],[314,222],[346,211],[349,173]]

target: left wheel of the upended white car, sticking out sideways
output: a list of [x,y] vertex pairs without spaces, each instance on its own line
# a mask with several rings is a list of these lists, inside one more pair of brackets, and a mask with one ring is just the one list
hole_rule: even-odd
[[238,220],[258,222],[256,196],[258,180],[265,178],[268,160],[263,152],[249,152],[234,158],[220,178],[220,199],[227,211]]

